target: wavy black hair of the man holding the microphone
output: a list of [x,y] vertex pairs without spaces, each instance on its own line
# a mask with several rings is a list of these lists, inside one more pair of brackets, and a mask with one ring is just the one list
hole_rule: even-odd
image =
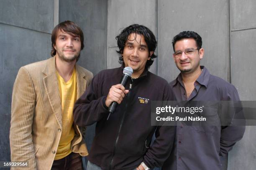
[[118,53],[118,56],[119,56],[119,63],[120,64],[123,63],[123,49],[125,47],[126,41],[128,40],[128,36],[131,33],[136,33],[136,34],[144,36],[144,39],[145,39],[145,41],[147,43],[147,46],[148,46],[148,55],[149,56],[150,56],[150,51],[153,51],[153,54],[152,54],[150,60],[148,60],[146,62],[146,66],[145,66],[145,69],[149,69],[149,67],[154,62],[153,58],[157,57],[154,54],[154,51],[156,50],[157,42],[156,42],[156,37],[154,36],[154,33],[152,33],[152,31],[149,30],[144,25],[139,25],[139,24],[130,25],[130,26],[124,28],[121,31],[121,33],[118,36],[115,37],[115,39],[117,40],[118,48],[119,48],[119,50],[116,51]]

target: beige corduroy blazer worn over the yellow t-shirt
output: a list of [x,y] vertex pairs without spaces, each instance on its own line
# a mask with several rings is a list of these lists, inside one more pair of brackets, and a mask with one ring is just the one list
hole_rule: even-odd
[[[76,67],[77,99],[84,93],[92,73]],[[71,150],[88,155],[83,134],[85,128],[74,124]],[[50,170],[62,131],[59,86],[55,57],[20,68],[13,86],[10,149],[11,160],[28,162],[21,170]]]

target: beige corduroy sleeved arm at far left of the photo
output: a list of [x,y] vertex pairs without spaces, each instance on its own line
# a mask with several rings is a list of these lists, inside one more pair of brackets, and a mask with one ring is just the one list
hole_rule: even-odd
[[[31,170],[36,169],[31,134],[35,104],[36,92],[31,76],[24,67],[21,67],[13,86],[10,151],[12,161],[28,162],[28,169]],[[21,167],[20,169],[25,170],[26,168]]]

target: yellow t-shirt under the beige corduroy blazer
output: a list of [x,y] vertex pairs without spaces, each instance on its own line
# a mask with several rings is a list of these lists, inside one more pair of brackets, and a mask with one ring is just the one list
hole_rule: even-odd
[[75,134],[73,127],[73,108],[74,103],[77,100],[77,84],[75,69],[71,78],[67,82],[65,82],[64,79],[59,75],[58,71],[56,71],[56,75],[59,83],[59,93],[61,99],[62,131],[54,160],[59,160],[72,152],[71,142]]

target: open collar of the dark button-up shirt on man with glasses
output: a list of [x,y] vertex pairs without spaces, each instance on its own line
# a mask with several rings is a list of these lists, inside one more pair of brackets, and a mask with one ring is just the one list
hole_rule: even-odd
[[[210,78],[210,72],[205,68],[205,66],[200,66],[200,69],[202,69],[202,72],[200,76],[197,78],[197,82],[201,85],[204,85],[207,88],[209,78]],[[182,82],[182,76],[181,73],[177,76],[176,81],[172,83],[172,86],[176,86],[177,83],[183,84]]]

